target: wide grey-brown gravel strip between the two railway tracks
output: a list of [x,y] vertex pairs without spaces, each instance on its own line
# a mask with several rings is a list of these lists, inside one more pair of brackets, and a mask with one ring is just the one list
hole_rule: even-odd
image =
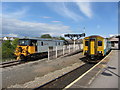
[[39,60],[2,70],[3,88],[34,88],[84,64],[82,53],[54,60]]

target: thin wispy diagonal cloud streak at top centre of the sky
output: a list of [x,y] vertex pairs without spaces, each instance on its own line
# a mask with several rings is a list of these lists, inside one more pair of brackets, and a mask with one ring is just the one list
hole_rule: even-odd
[[52,10],[54,10],[56,13],[58,13],[59,15],[61,15],[63,17],[70,18],[70,19],[72,19],[74,21],[79,21],[79,20],[82,19],[82,17],[80,15],[78,15],[77,13],[70,10],[65,5],[65,3],[63,3],[63,2],[61,2],[61,3],[49,3],[47,5]]

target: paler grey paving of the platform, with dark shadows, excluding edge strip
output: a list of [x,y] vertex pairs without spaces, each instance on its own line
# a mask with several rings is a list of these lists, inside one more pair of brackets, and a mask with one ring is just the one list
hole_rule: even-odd
[[118,75],[118,52],[120,51],[113,51],[107,67],[91,83],[90,88],[118,88],[118,78],[120,78]]

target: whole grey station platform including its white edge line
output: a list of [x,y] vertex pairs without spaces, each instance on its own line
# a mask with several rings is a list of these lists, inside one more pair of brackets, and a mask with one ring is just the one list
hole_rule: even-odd
[[74,80],[65,88],[114,88],[118,90],[118,79],[120,78],[118,74],[119,54],[119,50],[113,50],[100,63],[101,65],[96,65],[96,67]]

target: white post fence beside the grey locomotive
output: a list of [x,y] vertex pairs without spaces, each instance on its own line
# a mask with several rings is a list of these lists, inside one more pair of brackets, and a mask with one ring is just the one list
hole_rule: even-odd
[[77,50],[82,50],[83,46],[82,44],[76,44],[76,45],[64,45],[62,47],[56,46],[54,48],[48,48],[48,60],[58,58],[60,56],[64,56],[67,54],[70,54],[72,52],[75,52]]

